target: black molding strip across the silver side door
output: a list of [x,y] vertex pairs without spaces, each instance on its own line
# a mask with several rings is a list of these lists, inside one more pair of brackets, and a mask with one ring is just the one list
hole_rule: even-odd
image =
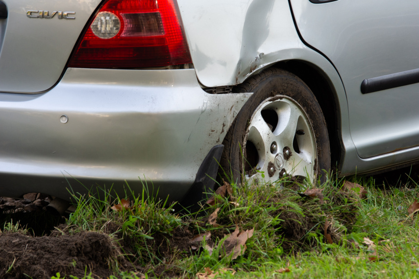
[[364,79],[361,83],[363,94],[396,88],[419,82],[419,69],[396,72],[383,76]]

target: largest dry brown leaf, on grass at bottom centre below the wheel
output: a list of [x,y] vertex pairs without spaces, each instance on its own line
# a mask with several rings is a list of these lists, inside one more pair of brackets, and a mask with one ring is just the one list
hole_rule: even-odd
[[229,234],[228,237],[222,243],[222,251],[224,255],[229,256],[232,254],[231,259],[236,259],[246,251],[246,241],[252,237],[254,229],[239,232],[239,227],[236,226],[236,230]]

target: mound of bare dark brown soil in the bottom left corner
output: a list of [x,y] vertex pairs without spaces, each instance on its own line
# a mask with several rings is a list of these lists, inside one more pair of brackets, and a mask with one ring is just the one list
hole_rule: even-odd
[[112,274],[109,264],[119,255],[110,237],[98,232],[32,237],[0,234],[0,278],[51,278],[57,272],[100,278]]

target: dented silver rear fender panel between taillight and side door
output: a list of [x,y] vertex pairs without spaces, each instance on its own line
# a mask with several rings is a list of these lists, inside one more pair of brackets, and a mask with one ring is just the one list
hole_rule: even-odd
[[272,63],[292,59],[300,41],[288,1],[178,0],[192,61],[207,87],[242,83]]

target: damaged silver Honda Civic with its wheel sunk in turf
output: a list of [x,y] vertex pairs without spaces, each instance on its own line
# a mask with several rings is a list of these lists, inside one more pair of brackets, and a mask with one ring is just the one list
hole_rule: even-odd
[[[198,197],[419,158],[416,0],[0,0],[0,194]],[[219,164],[222,168],[219,168]]]

